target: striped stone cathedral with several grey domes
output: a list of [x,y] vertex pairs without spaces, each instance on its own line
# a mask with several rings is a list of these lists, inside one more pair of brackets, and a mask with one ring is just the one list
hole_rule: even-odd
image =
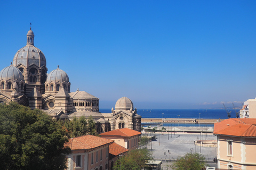
[[11,65],[0,72],[0,103],[15,101],[62,120],[91,116],[98,133],[121,128],[141,131],[141,116],[129,98],[118,99],[111,113],[100,113],[99,98],[79,89],[70,92],[69,77],[59,66],[48,74],[46,58],[34,46],[34,37],[30,28],[27,45],[19,49]]

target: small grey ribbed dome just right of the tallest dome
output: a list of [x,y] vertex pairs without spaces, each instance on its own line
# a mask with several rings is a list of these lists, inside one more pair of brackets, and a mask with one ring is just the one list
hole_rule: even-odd
[[58,68],[51,71],[48,75],[47,75],[47,79],[46,79],[47,82],[69,82],[69,78],[68,78],[68,74],[63,71],[63,70],[60,70],[59,69],[59,65],[58,65]]

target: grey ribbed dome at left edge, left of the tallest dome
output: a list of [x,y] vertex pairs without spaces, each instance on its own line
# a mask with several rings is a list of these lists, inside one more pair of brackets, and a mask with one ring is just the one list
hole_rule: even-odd
[[2,71],[0,71],[0,80],[16,80],[19,81],[23,80],[23,75],[17,67],[14,67],[13,65],[5,67]]

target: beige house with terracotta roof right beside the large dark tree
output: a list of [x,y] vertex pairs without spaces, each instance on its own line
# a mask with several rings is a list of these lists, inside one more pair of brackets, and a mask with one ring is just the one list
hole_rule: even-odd
[[67,156],[68,170],[112,169],[119,155],[128,151],[113,140],[94,135],[71,138],[65,146],[71,149],[71,154]]

